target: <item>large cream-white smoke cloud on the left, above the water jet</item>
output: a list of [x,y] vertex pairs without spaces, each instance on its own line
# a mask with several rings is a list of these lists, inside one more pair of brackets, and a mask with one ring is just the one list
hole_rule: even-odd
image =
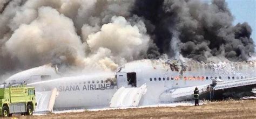
[[72,52],[75,58],[84,57],[80,38],[73,22],[57,10],[42,7],[37,19],[31,24],[22,24],[6,42],[6,50],[24,65],[50,62],[52,55],[71,57],[59,52]]

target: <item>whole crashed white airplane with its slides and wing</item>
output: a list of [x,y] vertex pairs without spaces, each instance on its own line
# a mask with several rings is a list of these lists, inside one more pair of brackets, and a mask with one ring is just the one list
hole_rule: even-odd
[[197,62],[137,60],[116,73],[61,76],[57,67],[44,65],[10,76],[6,85],[35,86],[37,111],[53,108],[136,107],[200,98],[254,95],[256,62]]

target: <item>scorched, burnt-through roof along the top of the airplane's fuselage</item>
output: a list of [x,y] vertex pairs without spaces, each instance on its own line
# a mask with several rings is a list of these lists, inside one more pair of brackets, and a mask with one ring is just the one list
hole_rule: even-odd
[[213,71],[216,70],[224,70],[225,68],[234,69],[242,69],[242,67],[255,68],[256,61],[242,61],[242,62],[232,62],[232,61],[221,61],[221,62],[199,62],[195,60],[135,60],[128,62],[122,66],[120,66],[117,72],[133,72],[138,71],[139,69],[163,69],[163,70],[171,70],[173,72],[181,72],[181,71],[194,71],[196,69],[210,69]]

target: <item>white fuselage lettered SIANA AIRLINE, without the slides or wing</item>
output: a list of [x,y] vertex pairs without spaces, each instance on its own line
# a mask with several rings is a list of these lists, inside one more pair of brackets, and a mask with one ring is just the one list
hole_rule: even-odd
[[[57,88],[59,94],[55,108],[97,108],[108,107],[118,88],[140,87],[146,83],[147,93],[140,101],[140,104],[146,105],[172,102],[173,99],[160,96],[170,89],[210,85],[213,79],[230,81],[255,77],[255,65],[255,62],[202,64],[190,61],[183,64],[186,68],[182,68],[177,62],[138,60],[123,65],[117,73],[62,77],[29,85],[35,86],[37,91]],[[129,73],[136,73],[133,85],[130,78],[127,80]],[[8,81],[13,82],[10,78]]]

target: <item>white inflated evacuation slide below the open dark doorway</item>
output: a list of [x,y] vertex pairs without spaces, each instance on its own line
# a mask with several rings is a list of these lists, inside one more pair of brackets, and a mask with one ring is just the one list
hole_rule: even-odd
[[137,107],[142,96],[146,93],[146,84],[138,88],[121,87],[113,95],[110,107]]

